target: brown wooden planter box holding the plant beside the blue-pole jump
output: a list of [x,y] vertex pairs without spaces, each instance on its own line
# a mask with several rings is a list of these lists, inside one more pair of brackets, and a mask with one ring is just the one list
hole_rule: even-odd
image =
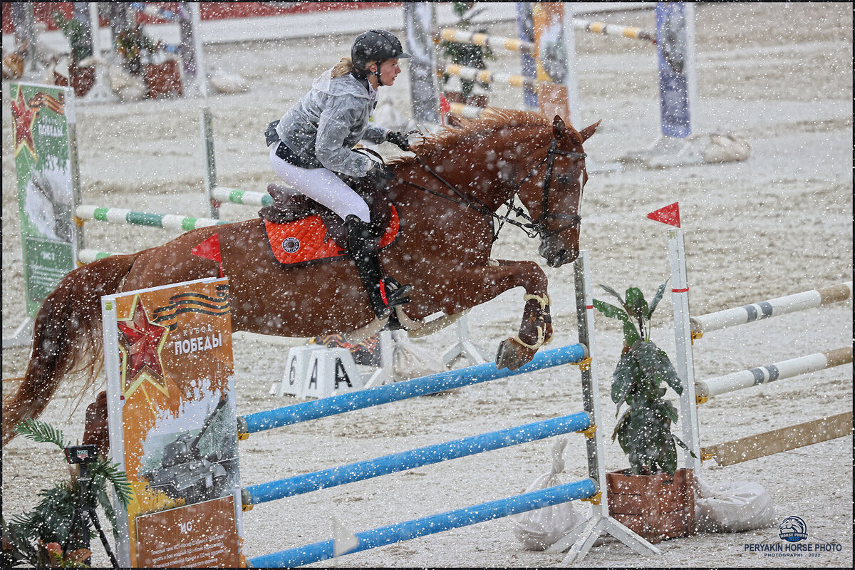
[[605,474],[612,518],[654,544],[697,532],[691,469],[677,469],[673,477],[627,471]]

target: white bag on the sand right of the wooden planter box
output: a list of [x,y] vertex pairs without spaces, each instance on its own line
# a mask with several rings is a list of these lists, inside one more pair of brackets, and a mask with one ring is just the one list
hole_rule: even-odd
[[773,526],[775,505],[763,485],[733,481],[710,486],[695,477],[695,516],[701,532],[743,532]]

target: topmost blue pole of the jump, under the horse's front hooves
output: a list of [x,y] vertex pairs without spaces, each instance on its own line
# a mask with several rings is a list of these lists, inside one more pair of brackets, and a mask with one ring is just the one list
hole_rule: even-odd
[[498,370],[495,362],[486,362],[472,367],[430,374],[404,382],[375,386],[374,388],[240,416],[238,418],[239,432],[254,433],[274,427],[290,426],[301,421],[317,420],[356,409],[370,408],[411,397],[426,396],[452,388],[570,364],[586,357],[587,348],[583,344],[569,344],[557,349],[538,352],[528,364],[517,370],[508,368]]

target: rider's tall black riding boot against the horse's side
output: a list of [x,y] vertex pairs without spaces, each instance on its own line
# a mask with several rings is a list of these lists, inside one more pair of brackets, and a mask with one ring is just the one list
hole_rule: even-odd
[[363,279],[363,285],[369,293],[371,309],[374,309],[377,318],[386,317],[393,307],[410,303],[410,297],[407,296],[412,291],[412,285],[401,285],[395,279],[385,276],[380,268],[380,258],[377,255],[379,236],[372,231],[374,228],[371,224],[360,220],[356,215],[347,216],[345,223],[347,251]]

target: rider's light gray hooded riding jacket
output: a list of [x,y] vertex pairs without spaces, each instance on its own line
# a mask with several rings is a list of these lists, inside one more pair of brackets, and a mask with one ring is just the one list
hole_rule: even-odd
[[386,142],[389,132],[382,126],[369,126],[375,105],[376,91],[369,93],[350,73],[333,79],[332,69],[328,69],[282,115],[276,133],[310,167],[362,178],[374,162],[351,148],[363,138],[374,144]]

